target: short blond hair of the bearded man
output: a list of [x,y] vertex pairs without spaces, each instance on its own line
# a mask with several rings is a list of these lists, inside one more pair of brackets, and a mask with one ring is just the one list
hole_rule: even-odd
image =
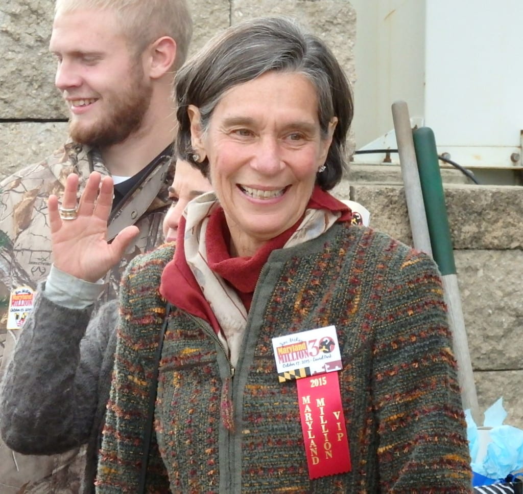
[[112,10],[116,13],[129,46],[137,54],[162,36],[176,41],[177,70],[187,58],[192,19],[186,0],[56,0],[54,15],[74,10]]

